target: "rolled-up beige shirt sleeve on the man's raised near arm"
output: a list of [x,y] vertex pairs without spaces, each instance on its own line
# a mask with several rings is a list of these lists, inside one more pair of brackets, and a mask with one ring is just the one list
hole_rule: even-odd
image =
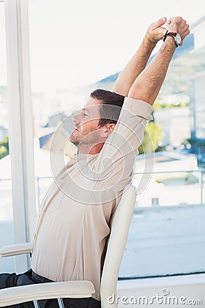
[[138,148],[147,121],[152,120],[152,105],[126,97],[115,129],[107,138],[92,168],[98,185],[122,190],[131,181]]

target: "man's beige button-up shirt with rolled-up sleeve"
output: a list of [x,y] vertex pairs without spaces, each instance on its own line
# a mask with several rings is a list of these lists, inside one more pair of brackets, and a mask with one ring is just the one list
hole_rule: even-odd
[[100,276],[109,220],[143,140],[152,106],[125,98],[114,131],[96,155],[76,155],[44,196],[33,240],[32,269],[52,281],[92,281],[100,300]]

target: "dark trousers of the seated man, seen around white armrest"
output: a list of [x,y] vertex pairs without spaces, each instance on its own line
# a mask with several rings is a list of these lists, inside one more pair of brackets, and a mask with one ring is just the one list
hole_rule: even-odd
[[[24,274],[0,274],[0,289],[17,287],[19,285],[32,285],[34,283],[48,283],[51,280],[39,276],[32,270]],[[63,298],[65,308],[100,308],[100,302],[94,298]],[[39,300],[40,308],[58,308],[56,299]],[[34,308],[33,302],[12,305],[12,308]]]

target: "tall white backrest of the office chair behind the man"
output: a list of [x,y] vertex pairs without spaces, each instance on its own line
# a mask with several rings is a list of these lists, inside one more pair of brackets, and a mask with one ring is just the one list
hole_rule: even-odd
[[113,296],[113,294],[115,294],[115,298],[117,296],[118,274],[133,218],[135,202],[136,189],[133,185],[129,184],[124,188],[120,203],[111,216],[111,232],[107,243],[107,252],[100,284],[102,308],[118,307],[115,303],[109,303],[108,298]]

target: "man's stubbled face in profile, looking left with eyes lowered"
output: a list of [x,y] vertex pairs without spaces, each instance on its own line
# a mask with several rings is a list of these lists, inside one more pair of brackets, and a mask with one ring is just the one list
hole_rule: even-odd
[[74,129],[70,135],[70,141],[76,145],[90,144],[94,146],[101,142],[100,129],[100,103],[98,99],[90,98],[81,112],[72,118]]

